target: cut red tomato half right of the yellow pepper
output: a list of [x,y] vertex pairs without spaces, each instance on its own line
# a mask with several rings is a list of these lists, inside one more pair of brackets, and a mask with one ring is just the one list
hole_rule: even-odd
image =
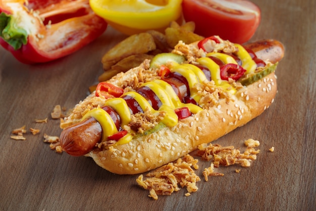
[[261,18],[258,6],[246,0],[183,0],[182,9],[185,21],[195,22],[195,33],[239,44],[252,37]]

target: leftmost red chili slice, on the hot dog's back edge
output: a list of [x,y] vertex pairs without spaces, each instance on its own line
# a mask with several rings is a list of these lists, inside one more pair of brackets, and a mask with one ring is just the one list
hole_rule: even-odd
[[116,97],[119,98],[123,95],[124,90],[108,82],[99,82],[95,89],[95,96],[104,96],[105,98]]

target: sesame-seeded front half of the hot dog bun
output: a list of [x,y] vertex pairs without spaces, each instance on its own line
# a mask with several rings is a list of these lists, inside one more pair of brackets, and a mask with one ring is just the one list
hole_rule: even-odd
[[87,154],[101,167],[115,174],[139,174],[192,152],[249,122],[274,101],[277,82],[274,73],[238,90],[230,99],[163,128],[134,138],[125,145]]

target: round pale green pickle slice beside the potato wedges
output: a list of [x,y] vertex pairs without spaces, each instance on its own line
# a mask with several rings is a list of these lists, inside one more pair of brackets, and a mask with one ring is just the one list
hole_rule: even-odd
[[178,64],[186,61],[184,56],[173,53],[161,53],[155,55],[150,61],[150,68],[159,68],[161,65],[166,64],[167,62],[176,62]]

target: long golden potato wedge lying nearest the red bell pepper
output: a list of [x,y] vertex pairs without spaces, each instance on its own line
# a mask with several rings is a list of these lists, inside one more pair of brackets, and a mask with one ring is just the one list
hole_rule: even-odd
[[101,60],[103,69],[111,69],[112,65],[128,56],[146,54],[155,49],[156,44],[149,33],[131,35],[104,54]]

